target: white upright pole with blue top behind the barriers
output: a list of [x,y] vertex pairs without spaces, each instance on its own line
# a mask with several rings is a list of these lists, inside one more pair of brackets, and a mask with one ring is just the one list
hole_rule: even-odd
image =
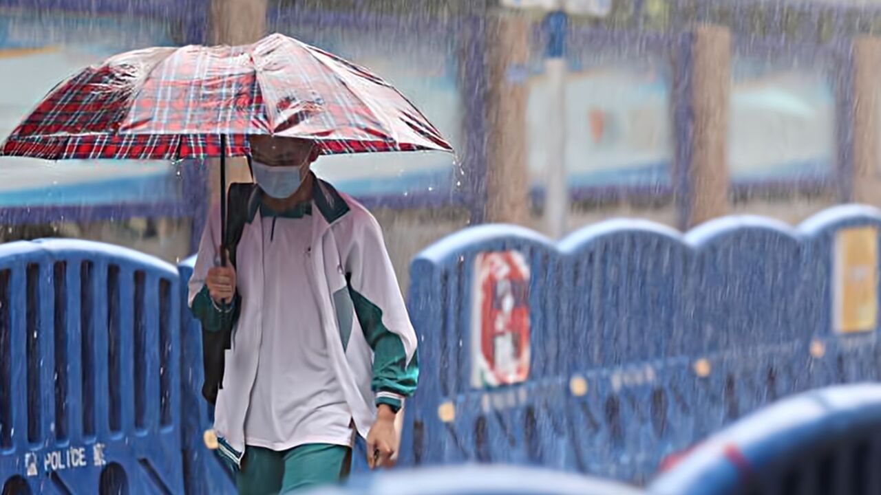
[[566,235],[569,190],[566,186],[566,13],[553,11],[544,18],[548,78],[547,164],[544,183],[544,225],[552,239]]

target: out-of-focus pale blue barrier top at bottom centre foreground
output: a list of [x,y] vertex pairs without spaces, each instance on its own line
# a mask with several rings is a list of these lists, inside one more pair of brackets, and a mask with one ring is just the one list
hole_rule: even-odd
[[632,486],[549,469],[512,466],[449,466],[352,477],[347,486],[315,495],[637,495]]

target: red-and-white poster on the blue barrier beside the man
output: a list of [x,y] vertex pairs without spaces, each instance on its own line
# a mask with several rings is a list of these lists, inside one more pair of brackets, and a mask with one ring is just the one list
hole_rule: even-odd
[[471,385],[493,388],[529,377],[529,264],[518,251],[474,259]]

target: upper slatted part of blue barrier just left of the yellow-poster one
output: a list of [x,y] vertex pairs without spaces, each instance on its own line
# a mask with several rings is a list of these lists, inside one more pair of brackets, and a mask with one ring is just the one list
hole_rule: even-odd
[[695,247],[692,339],[698,352],[790,342],[803,331],[802,244],[774,220],[729,217],[708,222]]

